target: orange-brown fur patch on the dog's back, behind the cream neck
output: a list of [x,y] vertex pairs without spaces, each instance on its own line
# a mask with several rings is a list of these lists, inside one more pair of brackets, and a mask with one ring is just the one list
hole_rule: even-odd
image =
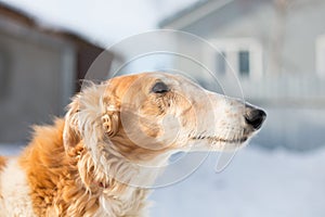
[[63,128],[63,119],[57,119],[54,126],[36,127],[34,139],[20,161],[26,170],[34,209],[38,216],[82,216],[86,208],[96,206],[93,200],[87,199],[84,207],[74,214],[68,213],[68,207],[76,202],[72,199],[82,196],[84,190],[77,179],[75,157],[79,150],[76,148],[75,153],[72,151],[66,155]]

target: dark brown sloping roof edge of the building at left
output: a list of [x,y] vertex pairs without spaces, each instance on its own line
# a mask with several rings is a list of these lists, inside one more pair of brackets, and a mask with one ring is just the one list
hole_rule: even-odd
[[77,43],[79,46],[95,47],[95,48],[103,49],[102,46],[100,46],[99,43],[91,41],[77,33],[74,33],[74,31],[70,31],[67,29],[54,28],[54,27],[51,27],[51,25],[49,25],[49,26],[40,25],[36,21],[36,18],[34,18],[30,14],[28,14],[20,9],[13,8],[9,4],[4,4],[3,2],[0,3],[0,15],[9,17],[10,20],[13,20],[24,26],[27,26],[30,29],[35,29],[37,31],[40,31],[40,33],[43,33],[43,34],[47,34],[47,35],[50,35],[53,37],[74,41],[75,43]]

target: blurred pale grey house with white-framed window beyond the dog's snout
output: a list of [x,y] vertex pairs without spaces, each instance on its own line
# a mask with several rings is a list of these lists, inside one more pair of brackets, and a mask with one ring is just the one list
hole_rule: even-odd
[[226,93],[235,73],[245,99],[266,107],[258,143],[307,150],[325,144],[324,18],[321,0],[202,0],[160,27],[210,42],[214,51],[195,50]]

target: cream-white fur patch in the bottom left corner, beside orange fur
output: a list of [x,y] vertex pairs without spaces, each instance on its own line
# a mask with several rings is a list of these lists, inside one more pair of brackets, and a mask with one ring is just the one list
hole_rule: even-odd
[[26,175],[16,158],[9,159],[0,174],[0,216],[36,216],[29,196]]

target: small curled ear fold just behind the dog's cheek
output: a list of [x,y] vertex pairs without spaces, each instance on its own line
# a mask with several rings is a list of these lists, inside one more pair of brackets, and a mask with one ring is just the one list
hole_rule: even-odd
[[119,104],[112,97],[103,99],[104,114],[102,124],[104,133],[108,137],[114,137],[119,128]]

